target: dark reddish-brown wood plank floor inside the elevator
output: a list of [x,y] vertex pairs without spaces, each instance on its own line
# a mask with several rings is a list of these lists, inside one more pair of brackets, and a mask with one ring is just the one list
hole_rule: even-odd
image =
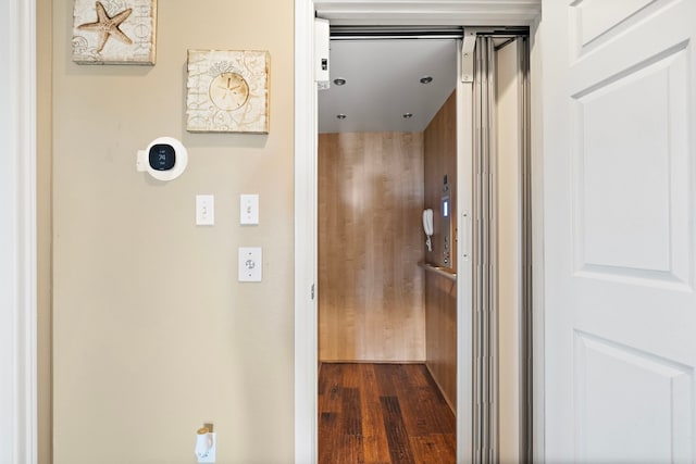
[[321,464],[453,463],[455,415],[422,364],[323,364]]

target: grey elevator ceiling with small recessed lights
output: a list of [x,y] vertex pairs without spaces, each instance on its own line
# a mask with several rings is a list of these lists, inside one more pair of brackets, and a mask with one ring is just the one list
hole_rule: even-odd
[[330,73],[331,88],[319,91],[320,133],[422,131],[455,90],[457,42],[332,40]]

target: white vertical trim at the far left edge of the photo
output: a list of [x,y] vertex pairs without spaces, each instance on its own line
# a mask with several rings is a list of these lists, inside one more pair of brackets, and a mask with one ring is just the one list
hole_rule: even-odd
[[35,0],[8,0],[0,16],[0,462],[35,464]]

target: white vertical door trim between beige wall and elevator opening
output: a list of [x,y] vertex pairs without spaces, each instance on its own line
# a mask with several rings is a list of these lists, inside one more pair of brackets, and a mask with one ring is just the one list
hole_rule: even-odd
[[314,5],[295,0],[295,462],[316,462]]

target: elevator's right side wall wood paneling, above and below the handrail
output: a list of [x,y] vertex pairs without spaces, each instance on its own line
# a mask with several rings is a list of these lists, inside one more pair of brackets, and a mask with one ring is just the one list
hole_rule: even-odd
[[[426,261],[457,267],[457,242],[451,240],[450,264],[442,260],[443,176],[450,186],[451,234],[457,229],[457,106],[452,93],[424,133],[425,208],[433,209],[433,252]],[[457,284],[427,273],[425,276],[426,365],[448,403],[457,404]]]

